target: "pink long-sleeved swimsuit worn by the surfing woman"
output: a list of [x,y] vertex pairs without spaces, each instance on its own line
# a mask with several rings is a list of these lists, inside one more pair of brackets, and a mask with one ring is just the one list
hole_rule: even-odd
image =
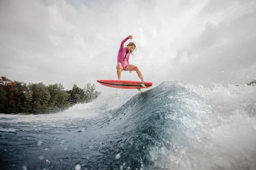
[[122,40],[120,48],[118,50],[118,55],[117,55],[117,63],[122,64],[122,68],[125,70],[125,67],[129,64],[129,56],[130,52],[127,52],[127,48],[124,47],[125,42],[129,38],[126,37],[124,40]]

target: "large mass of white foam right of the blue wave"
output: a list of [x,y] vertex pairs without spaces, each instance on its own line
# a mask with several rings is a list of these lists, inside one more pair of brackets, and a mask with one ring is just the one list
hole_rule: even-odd
[[[153,147],[154,167],[172,170],[256,169],[256,87],[204,89],[211,110],[209,125],[172,150]],[[207,96],[205,95],[205,96]],[[200,123],[200,122],[199,122]],[[196,122],[189,122],[197,124]],[[182,142],[180,142],[182,143]],[[154,169],[154,168],[153,168]]]

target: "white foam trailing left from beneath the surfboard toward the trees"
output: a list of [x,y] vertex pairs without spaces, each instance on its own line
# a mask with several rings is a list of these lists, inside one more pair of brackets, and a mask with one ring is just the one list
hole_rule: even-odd
[[102,92],[95,101],[86,104],[76,104],[64,112],[38,115],[0,114],[0,122],[17,123],[18,125],[12,124],[12,126],[32,126],[33,128],[38,127],[38,124],[40,126],[63,127],[65,122],[72,119],[94,118],[108,110],[119,108],[138,93],[136,89],[110,89],[109,91]]

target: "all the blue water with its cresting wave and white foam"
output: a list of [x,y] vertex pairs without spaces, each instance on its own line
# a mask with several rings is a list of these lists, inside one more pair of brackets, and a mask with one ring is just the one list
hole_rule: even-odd
[[0,114],[10,170],[256,169],[256,88],[165,81],[49,115]]

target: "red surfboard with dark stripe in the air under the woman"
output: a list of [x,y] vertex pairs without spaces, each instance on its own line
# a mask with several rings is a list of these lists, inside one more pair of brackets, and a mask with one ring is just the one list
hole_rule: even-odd
[[97,80],[99,84],[119,89],[143,89],[152,86],[153,83],[131,80]]

